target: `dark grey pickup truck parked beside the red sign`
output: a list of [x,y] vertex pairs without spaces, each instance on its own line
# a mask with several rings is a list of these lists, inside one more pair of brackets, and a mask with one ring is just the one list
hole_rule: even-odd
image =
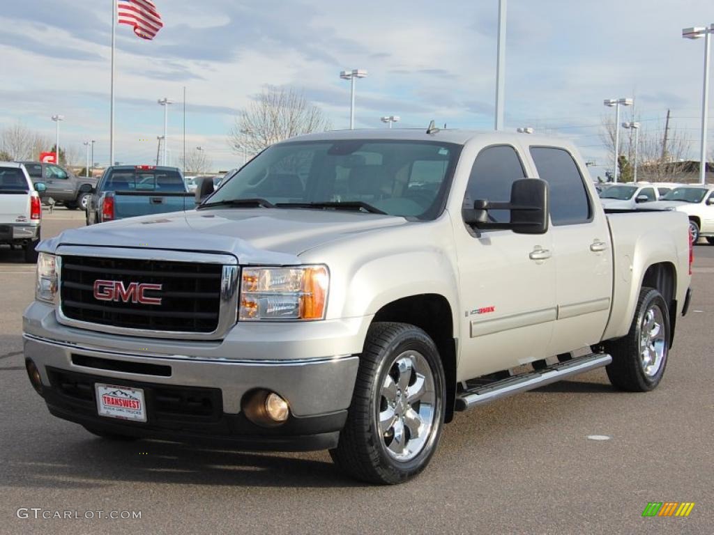
[[[57,204],[64,204],[69,210],[86,209],[86,186],[94,188],[96,178],[77,176],[70,170],[54,163],[21,162],[34,182],[43,182],[46,190],[40,198],[44,201],[50,197]],[[84,186],[84,188],[83,188]]]

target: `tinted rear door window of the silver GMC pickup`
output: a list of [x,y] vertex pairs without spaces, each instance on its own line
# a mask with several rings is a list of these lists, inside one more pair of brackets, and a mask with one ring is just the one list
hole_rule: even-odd
[[572,225],[590,220],[590,201],[583,176],[568,151],[531,147],[538,175],[548,182],[550,220],[553,225]]

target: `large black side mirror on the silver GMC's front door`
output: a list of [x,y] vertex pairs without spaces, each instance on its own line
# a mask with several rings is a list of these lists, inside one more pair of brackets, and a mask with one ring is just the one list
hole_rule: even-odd
[[[488,210],[510,210],[508,223],[490,223]],[[517,234],[548,232],[548,183],[539,178],[521,178],[511,185],[510,203],[479,199],[473,210],[463,210],[463,220],[479,230],[513,230]]]

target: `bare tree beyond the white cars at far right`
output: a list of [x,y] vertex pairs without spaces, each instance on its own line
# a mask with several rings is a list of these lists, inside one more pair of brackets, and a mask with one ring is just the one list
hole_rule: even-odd
[[[635,115],[630,121],[637,121]],[[683,172],[689,153],[689,143],[685,131],[681,131],[675,126],[670,126],[666,143],[663,136],[664,124],[655,123],[654,126],[645,127],[645,123],[640,122],[639,147],[638,147],[638,168],[642,174],[638,176],[643,180],[652,182],[669,182],[678,180],[678,175]],[[602,128],[600,129],[600,139],[608,149],[609,158],[612,160],[615,154],[615,121],[611,117],[603,117]],[[618,125],[619,126],[619,125]],[[663,150],[664,149],[664,150]],[[630,128],[627,132],[620,131],[620,147],[618,161],[620,170],[623,171],[623,182],[632,180],[631,174],[635,159],[635,134]],[[666,155],[662,157],[663,153]],[[626,171],[626,172],[625,172]]]

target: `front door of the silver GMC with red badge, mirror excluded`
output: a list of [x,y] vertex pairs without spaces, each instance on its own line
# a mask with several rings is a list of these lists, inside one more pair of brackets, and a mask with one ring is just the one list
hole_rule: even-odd
[[[511,184],[525,178],[513,146],[484,148],[473,163],[464,198],[508,202]],[[507,222],[507,211],[489,216]],[[461,352],[458,380],[545,358],[555,321],[555,263],[550,231],[477,233],[452,217],[461,284]]]

